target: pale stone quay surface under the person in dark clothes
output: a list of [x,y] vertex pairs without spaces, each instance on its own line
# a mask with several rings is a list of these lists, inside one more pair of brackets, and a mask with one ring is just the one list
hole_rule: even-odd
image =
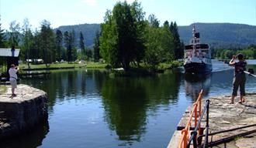
[[[248,93],[246,96],[246,102],[243,104],[235,103],[228,104],[230,96],[213,96],[209,97],[209,133],[215,133],[217,131],[230,130],[240,126],[248,126],[256,124],[256,93]],[[239,101],[237,97],[236,102]],[[185,124],[189,118],[191,107],[189,106],[182,116],[182,119],[178,123],[177,130],[171,137],[171,141],[168,144],[168,148],[178,147],[178,141],[180,140],[181,130],[185,127]],[[206,125],[205,119],[202,121],[202,127]],[[192,126],[194,126],[192,124]],[[255,130],[255,126],[246,128],[243,130],[235,130],[233,132],[217,134],[213,136],[213,141],[223,139],[227,136],[233,136],[238,133],[244,133],[247,131]],[[233,141],[226,143],[227,147],[244,148],[254,147],[256,144],[256,133],[252,133],[247,136],[237,136]],[[214,147],[214,146],[213,146]],[[224,143],[218,147],[224,147]]]

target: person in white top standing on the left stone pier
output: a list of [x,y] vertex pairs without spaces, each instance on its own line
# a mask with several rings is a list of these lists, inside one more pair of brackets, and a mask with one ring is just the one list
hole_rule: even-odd
[[15,89],[17,88],[17,72],[19,70],[18,66],[15,66],[14,64],[11,65],[11,68],[9,69],[9,75],[10,75],[10,82],[11,82],[11,86],[12,86],[12,97],[16,96],[16,94],[14,93]]

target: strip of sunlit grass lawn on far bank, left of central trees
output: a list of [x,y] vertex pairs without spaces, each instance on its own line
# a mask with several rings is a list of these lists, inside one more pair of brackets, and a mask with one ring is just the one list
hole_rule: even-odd
[[[30,64],[29,65],[32,69],[35,68],[46,68],[45,64],[37,64],[37,65],[33,65]],[[86,63],[82,63],[82,64],[78,64],[76,62],[71,62],[71,63],[67,63],[67,62],[61,62],[61,63],[52,63],[49,65],[50,68],[64,68],[64,67],[83,67],[85,66],[86,68],[105,68],[106,64],[101,63],[101,62],[86,62]],[[20,69],[27,69],[28,65],[26,63],[22,63],[19,64],[19,68]]]

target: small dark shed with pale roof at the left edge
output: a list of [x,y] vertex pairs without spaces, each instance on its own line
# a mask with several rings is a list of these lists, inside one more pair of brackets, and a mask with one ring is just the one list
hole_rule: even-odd
[[5,66],[5,72],[7,73],[12,64],[19,66],[19,51],[20,49],[0,49],[1,72],[3,72]]

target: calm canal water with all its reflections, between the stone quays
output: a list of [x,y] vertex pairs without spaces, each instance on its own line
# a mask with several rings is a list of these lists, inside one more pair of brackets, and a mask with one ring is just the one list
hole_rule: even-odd
[[[256,61],[248,62],[256,72]],[[47,92],[48,121],[0,147],[166,147],[200,89],[204,99],[230,95],[233,71],[213,60],[213,72],[200,77],[185,75],[182,68],[116,78],[106,70],[72,69],[52,72],[47,79],[22,79]],[[247,76],[247,92],[255,92],[255,86],[256,79]]]

